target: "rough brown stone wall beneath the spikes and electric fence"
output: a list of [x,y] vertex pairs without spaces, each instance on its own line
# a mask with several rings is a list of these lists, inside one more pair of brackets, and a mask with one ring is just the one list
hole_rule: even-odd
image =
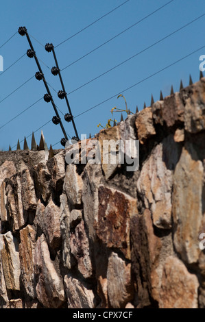
[[134,172],[0,153],[0,308],[205,308],[205,78],[95,140],[129,138]]

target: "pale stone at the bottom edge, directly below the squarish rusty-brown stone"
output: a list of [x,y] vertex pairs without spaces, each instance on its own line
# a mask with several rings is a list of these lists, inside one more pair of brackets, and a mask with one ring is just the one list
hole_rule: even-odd
[[112,252],[108,260],[108,297],[112,308],[125,308],[133,299],[131,264],[125,263],[117,253]]

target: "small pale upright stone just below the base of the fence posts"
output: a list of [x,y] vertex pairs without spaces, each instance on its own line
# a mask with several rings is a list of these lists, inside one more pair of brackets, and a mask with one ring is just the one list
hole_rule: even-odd
[[64,191],[72,205],[82,203],[82,177],[77,174],[75,164],[67,165],[67,172],[64,178]]

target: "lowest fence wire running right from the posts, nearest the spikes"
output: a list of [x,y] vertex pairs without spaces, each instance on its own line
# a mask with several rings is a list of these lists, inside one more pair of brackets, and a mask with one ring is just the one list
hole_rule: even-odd
[[92,108],[88,108],[88,110],[85,110],[84,112],[77,114],[74,119],[82,114],[85,114],[86,112],[93,110],[94,108],[97,108],[98,106],[100,106],[103,103],[106,103],[107,101],[110,101],[110,99],[113,99],[114,97],[117,97],[119,94],[121,94],[122,92],[126,92],[127,90],[130,90],[131,88],[133,88],[134,86],[137,86],[138,84],[141,84],[143,82],[145,82],[145,80],[154,77],[155,75],[157,75],[158,73],[161,73],[162,71],[165,71],[166,69],[168,69],[169,67],[173,66],[174,64],[177,64],[178,62],[181,62],[182,60],[184,60],[185,58],[193,55],[194,53],[196,53],[197,51],[200,51],[201,49],[204,49],[205,45],[200,47],[199,49],[193,51],[192,53],[189,53],[188,55],[184,56],[183,58],[180,58],[179,60],[176,60],[176,62],[173,62],[172,64],[169,64],[168,66],[164,67],[163,69],[160,69],[160,71],[157,71],[156,73],[149,75],[148,77],[142,79],[140,82],[137,82],[136,84],[125,88],[124,90],[121,90],[120,92],[118,92],[117,94],[113,95],[112,97],[109,97],[108,99],[105,99],[104,101],[102,101],[101,103],[98,103],[97,105],[93,106]]

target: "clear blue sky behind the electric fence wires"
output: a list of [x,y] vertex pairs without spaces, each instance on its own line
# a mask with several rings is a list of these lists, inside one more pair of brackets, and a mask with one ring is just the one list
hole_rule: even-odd
[[[54,46],[57,46],[60,42],[123,2],[125,0],[2,1],[0,47],[21,26],[27,27],[29,34],[34,36],[42,45],[52,42]],[[121,5],[120,8],[84,30],[84,32],[56,47],[55,51],[60,69],[64,69],[65,66],[72,64],[75,60],[168,2],[169,0],[130,0]],[[117,64],[128,60],[132,55],[143,51],[153,45],[154,42],[165,38],[202,14],[205,14],[203,0],[174,0],[165,5],[164,8],[131,27],[127,32],[64,69],[62,79],[67,93],[112,69]],[[169,95],[171,85],[173,85],[175,91],[178,91],[181,79],[184,86],[187,86],[190,74],[193,82],[197,82],[200,75],[199,58],[200,55],[205,54],[204,21],[205,15],[157,45],[136,55],[128,62],[121,64],[110,73],[106,73],[106,75],[68,95],[74,117],[113,97],[96,108],[75,117],[79,136],[97,133],[99,131],[97,124],[106,124],[111,116],[110,110],[114,106],[125,108],[123,99],[117,99],[119,93],[125,96],[128,108],[135,112],[136,106],[141,110],[144,102],[147,106],[150,105],[151,95],[154,96],[155,101],[158,100],[160,90],[162,90],[164,96]],[[44,47],[34,38],[31,37],[32,43],[36,55],[40,59],[45,79],[58,92],[62,89],[59,77],[53,76],[50,71],[51,67],[55,66],[53,55],[47,53]],[[203,46],[204,49],[189,55]],[[19,34],[16,34],[0,48],[4,71],[26,53],[27,49],[29,49],[27,38]],[[186,55],[189,55],[189,57],[157,73]],[[2,101],[0,103],[0,149],[8,150],[9,145],[15,149],[18,138],[21,141],[24,136],[29,136],[36,129],[38,129],[35,132],[37,144],[42,129],[48,146],[52,144],[55,149],[62,147],[58,143],[63,137],[60,125],[49,122],[42,127],[55,115],[51,103],[46,103],[43,99],[19,117],[16,117],[14,121],[3,126],[45,95],[46,89],[43,82],[39,82],[35,77],[10,95],[12,91],[35,75],[36,71],[38,69],[34,58],[30,59],[25,55],[8,71],[0,72],[0,101]],[[154,73],[157,74],[149,77]],[[149,78],[146,79],[147,77]],[[146,80],[143,81],[143,79]],[[139,84],[133,86],[137,83]],[[133,87],[130,90],[125,91],[126,88],[131,86]],[[60,100],[52,88],[50,90],[54,103],[62,114],[67,113],[65,100]],[[10,96],[5,99],[8,95]],[[69,136],[75,135],[72,124],[64,121],[61,112],[59,113],[67,133]],[[119,113],[115,113],[114,116],[117,120],[120,119]],[[125,114],[123,116],[125,117]],[[32,136],[27,138],[29,146],[31,138]],[[21,148],[23,148],[23,143],[21,143]]]

